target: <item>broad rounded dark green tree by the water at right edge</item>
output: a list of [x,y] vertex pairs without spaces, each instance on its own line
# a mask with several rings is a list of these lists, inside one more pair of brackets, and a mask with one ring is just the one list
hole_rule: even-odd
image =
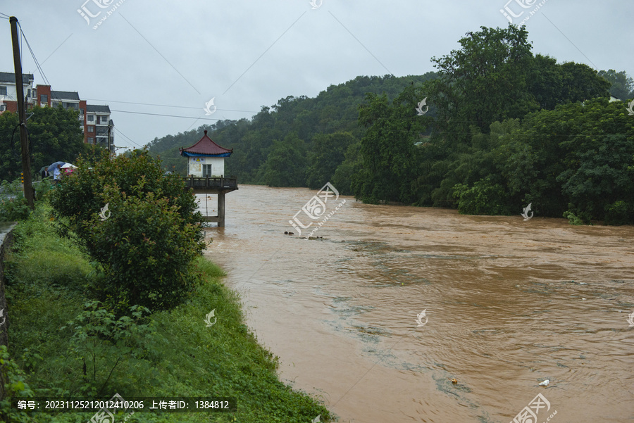
[[588,221],[606,220],[619,201],[634,209],[634,122],[622,103],[593,99],[533,113],[506,140],[498,147],[506,187],[535,213]]

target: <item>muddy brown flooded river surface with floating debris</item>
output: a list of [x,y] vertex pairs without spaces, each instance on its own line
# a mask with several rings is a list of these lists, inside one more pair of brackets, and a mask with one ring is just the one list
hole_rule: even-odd
[[316,194],[240,185],[206,231],[282,381],[343,423],[634,422],[634,227],[340,196],[306,240]]

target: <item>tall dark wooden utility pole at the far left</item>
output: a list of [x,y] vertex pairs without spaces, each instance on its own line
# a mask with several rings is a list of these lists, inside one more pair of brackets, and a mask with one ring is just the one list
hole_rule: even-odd
[[22,144],[22,172],[24,175],[24,198],[33,209],[33,184],[31,182],[31,157],[26,132],[26,108],[24,104],[24,86],[22,84],[22,62],[20,61],[20,44],[18,37],[18,18],[11,16],[11,42],[13,42],[13,68],[15,68],[15,90],[18,97],[18,119],[20,120],[20,144]]

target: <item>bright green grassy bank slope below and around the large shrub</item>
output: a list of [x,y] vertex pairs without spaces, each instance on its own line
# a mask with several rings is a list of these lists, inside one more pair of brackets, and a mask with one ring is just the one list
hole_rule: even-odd
[[[77,245],[56,235],[49,210],[40,204],[16,227],[6,261],[9,355],[35,396],[237,398],[235,413],[137,412],[126,422],[328,421],[323,405],[279,381],[276,358],[247,329],[219,267],[199,258],[204,282],[174,310],[116,320],[87,307],[97,274]],[[214,309],[217,321],[207,327]],[[87,422],[92,415],[34,414],[28,421]]]

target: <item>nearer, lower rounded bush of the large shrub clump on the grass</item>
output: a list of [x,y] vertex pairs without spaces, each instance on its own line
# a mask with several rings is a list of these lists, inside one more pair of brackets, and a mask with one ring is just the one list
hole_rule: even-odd
[[[127,198],[109,190],[111,217],[86,222],[89,254],[104,277],[93,286],[113,304],[165,310],[181,303],[197,283],[190,263],[199,253],[197,225],[182,225],[176,206],[154,194]],[[92,232],[88,232],[92,229]]]

